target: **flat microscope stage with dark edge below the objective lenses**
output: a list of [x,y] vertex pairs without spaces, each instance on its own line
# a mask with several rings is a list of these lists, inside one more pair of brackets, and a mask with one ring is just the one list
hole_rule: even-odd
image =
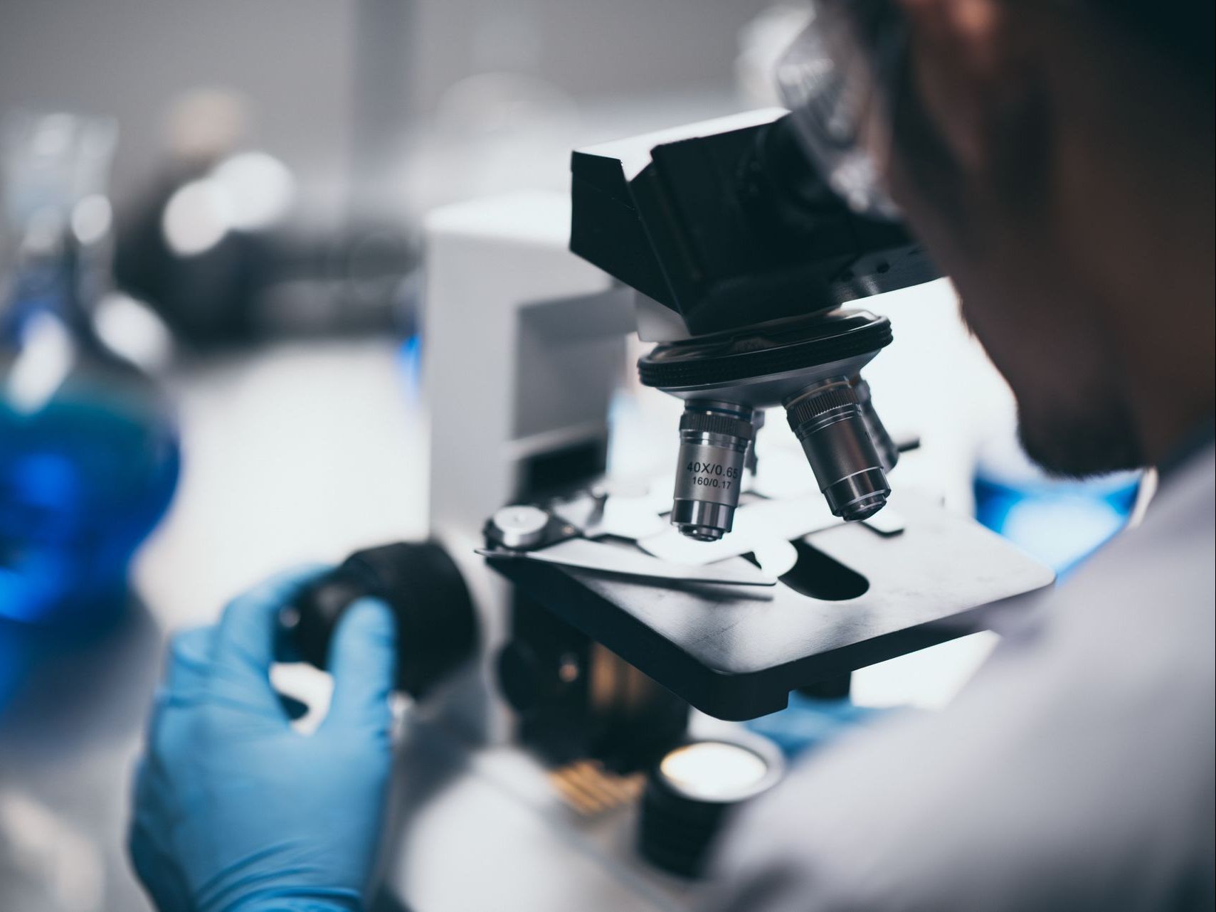
[[[913,494],[903,531],[834,525],[795,542],[773,589],[675,584],[537,561],[492,561],[519,592],[719,719],[786,706],[792,689],[983,630],[995,603],[1053,573]],[[745,558],[730,562],[743,564]]]

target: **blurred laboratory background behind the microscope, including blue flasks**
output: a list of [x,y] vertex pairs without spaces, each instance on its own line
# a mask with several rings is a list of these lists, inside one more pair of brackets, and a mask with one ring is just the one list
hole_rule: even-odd
[[[805,18],[769,0],[0,4],[0,908],[146,910],[123,827],[167,634],[285,565],[426,534],[424,214],[561,191],[578,146],[775,105]],[[1024,461],[947,282],[873,309],[899,339],[876,396],[931,457],[906,480],[1058,569],[1126,520],[1138,478]],[[624,366],[621,387],[623,422],[677,407]]]

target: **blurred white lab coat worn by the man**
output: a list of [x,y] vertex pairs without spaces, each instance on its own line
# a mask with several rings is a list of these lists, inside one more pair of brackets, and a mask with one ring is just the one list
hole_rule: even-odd
[[749,809],[715,912],[1214,906],[1214,452],[1046,595],[944,713],[858,732]]

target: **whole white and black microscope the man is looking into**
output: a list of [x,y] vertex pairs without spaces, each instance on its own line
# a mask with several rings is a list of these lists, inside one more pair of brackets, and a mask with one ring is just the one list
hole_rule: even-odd
[[[893,328],[860,304],[938,272],[817,178],[779,109],[580,150],[568,196],[461,203],[426,231],[434,537],[348,559],[298,606],[298,642],[320,664],[364,593],[398,613],[427,730],[405,776],[444,783],[400,824],[411,906],[474,907],[429,872],[495,833],[496,908],[686,908],[722,812],[779,778],[738,722],[846,694],[1053,580],[890,480],[912,441],[862,371]],[[682,402],[662,480],[608,472],[635,334],[637,395]],[[764,427],[778,410],[789,432]],[[801,447],[793,482],[766,475],[761,433]],[[474,782],[514,810],[469,811]]]

